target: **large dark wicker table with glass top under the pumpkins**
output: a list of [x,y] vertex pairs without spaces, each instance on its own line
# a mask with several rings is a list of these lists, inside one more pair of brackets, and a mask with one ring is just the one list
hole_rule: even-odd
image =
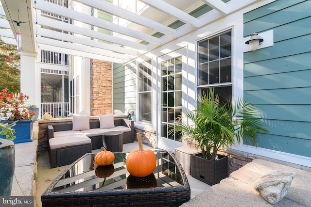
[[161,206],[190,200],[190,186],[172,153],[155,151],[153,174],[138,178],[126,170],[128,153],[115,153],[110,166],[97,166],[87,153],[64,170],[41,195],[43,207]]

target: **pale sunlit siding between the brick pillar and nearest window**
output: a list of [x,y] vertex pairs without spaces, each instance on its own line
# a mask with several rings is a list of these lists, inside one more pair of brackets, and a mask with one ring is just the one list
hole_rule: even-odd
[[136,65],[135,63],[122,65],[113,64],[113,100],[112,108],[122,112],[132,110],[134,111],[131,117],[136,120]]

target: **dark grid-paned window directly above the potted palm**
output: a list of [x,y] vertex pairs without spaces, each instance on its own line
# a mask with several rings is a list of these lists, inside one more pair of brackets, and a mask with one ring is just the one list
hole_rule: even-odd
[[213,87],[220,101],[232,96],[232,31],[198,42],[198,94]]

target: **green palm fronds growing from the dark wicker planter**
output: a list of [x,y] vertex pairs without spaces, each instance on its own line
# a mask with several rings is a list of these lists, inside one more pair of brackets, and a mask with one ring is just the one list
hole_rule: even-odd
[[[190,139],[202,150],[203,157],[210,161],[216,160],[220,148],[230,147],[236,142],[258,145],[259,134],[269,133],[265,123],[259,119],[257,108],[238,98],[234,103],[228,100],[221,104],[219,95],[209,90],[208,96],[203,94],[198,99],[195,110],[185,113],[190,124],[182,124],[182,117],[175,125],[175,131],[180,132],[182,139]],[[169,133],[173,133],[173,128]]]

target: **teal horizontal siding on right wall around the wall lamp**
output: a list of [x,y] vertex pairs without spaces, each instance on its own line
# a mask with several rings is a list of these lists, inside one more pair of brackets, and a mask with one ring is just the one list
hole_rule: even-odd
[[243,16],[244,37],[274,31],[274,46],[244,53],[244,97],[270,134],[259,147],[311,157],[311,0],[276,0]]

